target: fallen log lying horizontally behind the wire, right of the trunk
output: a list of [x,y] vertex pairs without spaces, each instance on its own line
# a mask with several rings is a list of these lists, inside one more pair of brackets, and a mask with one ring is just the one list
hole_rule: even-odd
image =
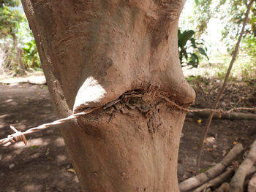
[[[198,116],[200,118],[208,118],[211,114],[210,111],[200,111],[200,112],[187,112],[187,117],[192,118]],[[213,118],[223,118],[223,119],[238,119],[238,120],[256,120],[256,115],[252,113],[243,112],[233,112],[233,113],[222,113],[221,115],[214,114]]]

